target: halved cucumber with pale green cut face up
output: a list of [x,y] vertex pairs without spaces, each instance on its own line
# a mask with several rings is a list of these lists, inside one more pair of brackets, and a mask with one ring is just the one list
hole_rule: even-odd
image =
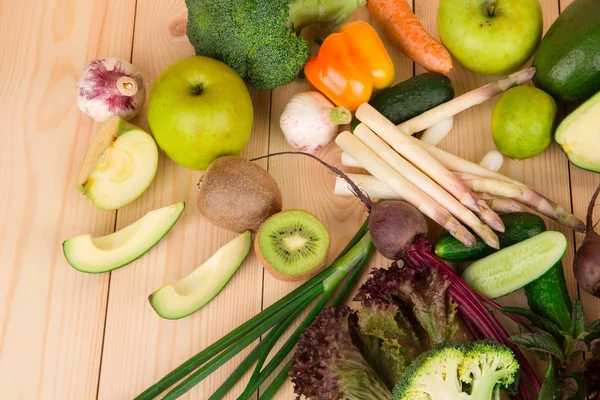
[[565,235],[542,232],[469,265],[463,280],[491,298],[505,296],[544,275],[567,250]]

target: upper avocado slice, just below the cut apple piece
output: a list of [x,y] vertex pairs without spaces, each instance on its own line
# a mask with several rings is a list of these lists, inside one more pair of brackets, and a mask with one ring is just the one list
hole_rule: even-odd
[[179,202],[150,211],[133,224],[107,236],[89,234],[63,243],[65,258],[81,272],[99,274],[112,271],[143,256],[169,232],[185,208]]

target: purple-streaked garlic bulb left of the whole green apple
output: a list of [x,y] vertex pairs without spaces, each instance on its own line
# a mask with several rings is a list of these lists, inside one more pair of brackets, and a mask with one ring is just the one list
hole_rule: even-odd
[[91,61],[77,82],[77,106],[95,121],[135,117],[146,99],[144,80],[133,65],[113,57]]

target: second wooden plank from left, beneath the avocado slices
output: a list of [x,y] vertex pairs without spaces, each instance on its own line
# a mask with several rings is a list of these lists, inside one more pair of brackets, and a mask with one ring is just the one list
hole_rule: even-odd
[[[183,0],[138,0],[133,63],[143,73],[148,87],[171,62],[194,54],[185,35],[186,23]],[[252,91],[252,100],[254,130],[243,154],[249,158],[268,150],[270,92]],[[147,128],[145,110],[134,122]],[[266,166],[266,162],[262,165]],[[133,398],[260,311],[263,271],[254,255],[223,292],[193,316],[164,320],[148,303],[150,293],[187,275],[236,236],[199,215],[196,184],[200,176],[200,172],[176,165],[161,155],[154,184],[118,214],[117,229],[151,209],[186,201],[186,210],[172,231],[144,257],[112,275],[100,399]],[[240,360],[238,355],[183,398],[208,398]],[[241,392],[241,387],[232,393]]]

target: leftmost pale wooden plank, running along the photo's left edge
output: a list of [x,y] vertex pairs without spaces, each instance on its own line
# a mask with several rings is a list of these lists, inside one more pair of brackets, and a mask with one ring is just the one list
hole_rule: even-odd
[[108,274],[65,261],[61,242],[114,228],[75,189],[98,128],[75,105],[94,58],[128,60],[135,0],[0,5],[0,388],[4,399],[96,396]]

